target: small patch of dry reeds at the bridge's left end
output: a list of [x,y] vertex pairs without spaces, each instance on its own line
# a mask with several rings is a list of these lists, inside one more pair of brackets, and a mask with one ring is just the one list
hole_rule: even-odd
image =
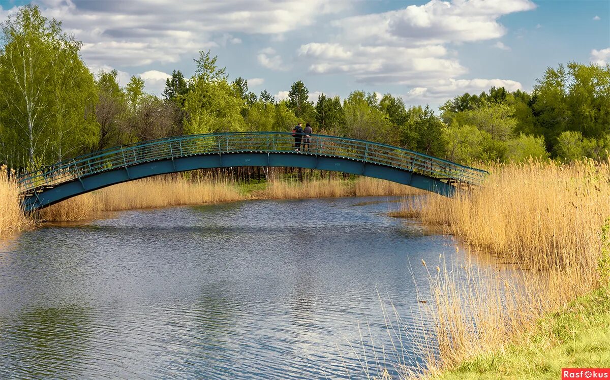
[[[13,234],[32,225],[21,207],[19,188],[9,179],[7,168],[0,167],[0,236]],[[14,176],[11,176],[14,178]]]

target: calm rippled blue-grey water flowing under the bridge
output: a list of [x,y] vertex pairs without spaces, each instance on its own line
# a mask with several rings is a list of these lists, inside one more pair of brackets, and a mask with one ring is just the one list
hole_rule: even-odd
[[456,255],[392,207],[250,201],[21,234],[0,250],[0,378],[362,378],[363,351],[392,347],[381,304],[417,335],[421,260]]

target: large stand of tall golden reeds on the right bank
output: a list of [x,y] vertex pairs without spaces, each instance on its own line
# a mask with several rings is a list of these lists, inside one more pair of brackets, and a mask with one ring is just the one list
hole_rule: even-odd
[[405,201],[417,215],[516,271],[432,270],[436,321],[430,370],[518,342],[542,315],[600,285],[601,227],[610,216],[610,165],[586,160],[497,165],[487,183],[455,199]]

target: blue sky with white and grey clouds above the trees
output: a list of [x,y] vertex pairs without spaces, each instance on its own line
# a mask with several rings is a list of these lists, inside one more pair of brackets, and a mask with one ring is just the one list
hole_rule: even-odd
[[[547,66],[610,62],[610,1],[40,0],[83,42],[97,72],[117,69],[160,94],[211,49],[231,79],[282,98],[360,89],[439,106],[490,86],[530,91]],[[27,2],[0,0],[0,18]]]

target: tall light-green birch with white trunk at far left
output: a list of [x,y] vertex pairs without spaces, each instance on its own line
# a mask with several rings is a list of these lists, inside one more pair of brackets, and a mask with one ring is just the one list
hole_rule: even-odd
[[95,82],[81,42],[26,5],[2,24],[0,124],[5,160],[35,168],[97,142]]

